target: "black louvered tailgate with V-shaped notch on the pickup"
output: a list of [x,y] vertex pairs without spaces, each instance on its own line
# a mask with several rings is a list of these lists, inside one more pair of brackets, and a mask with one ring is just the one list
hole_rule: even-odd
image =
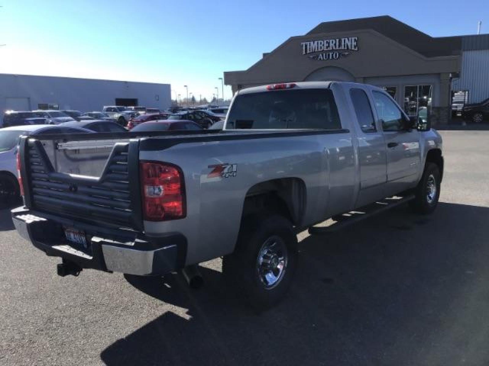
[[[71,135],[69,141],[109,140],[102,134],[93,134],[98,139],[87,139],[87,135],[91,134]],[[41,140],[62,143],[67,142],[66,136],[22,137],[19,153],[25,205],[81,222],[141,231],[139,140],[124,137],[125,141],[113,145],[99,178],[55,171]]]

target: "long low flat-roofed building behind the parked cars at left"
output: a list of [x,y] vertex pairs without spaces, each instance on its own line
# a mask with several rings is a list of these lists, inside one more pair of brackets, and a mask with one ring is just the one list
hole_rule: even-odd
[[100,111],[104,105],[167,109],[170,84],[0,74],[0,119],[6,110]]

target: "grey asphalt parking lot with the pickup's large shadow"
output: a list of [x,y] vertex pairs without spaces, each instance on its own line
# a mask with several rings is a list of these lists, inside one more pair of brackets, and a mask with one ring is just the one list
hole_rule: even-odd
[[1,365],[488,365],[489,131],[443,131],[441,203],[302,235],[286,300],[256,315],[203,264],[56,275],[0,211]]

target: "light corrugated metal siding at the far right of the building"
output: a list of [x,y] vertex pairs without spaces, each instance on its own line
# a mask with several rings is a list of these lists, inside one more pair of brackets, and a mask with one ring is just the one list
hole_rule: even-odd
[[462,53],[460,79],[452,82],[452,90],[468,90],[469,103],[489,98],[489,49]]

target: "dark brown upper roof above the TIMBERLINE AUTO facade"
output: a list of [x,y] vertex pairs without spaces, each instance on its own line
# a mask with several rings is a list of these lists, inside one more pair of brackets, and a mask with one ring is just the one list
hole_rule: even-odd
[[431,37],[387,15],[371,18],[327,21],[314,27],[307,35],[373,29],[426,57],[460,55],[462,37]]

